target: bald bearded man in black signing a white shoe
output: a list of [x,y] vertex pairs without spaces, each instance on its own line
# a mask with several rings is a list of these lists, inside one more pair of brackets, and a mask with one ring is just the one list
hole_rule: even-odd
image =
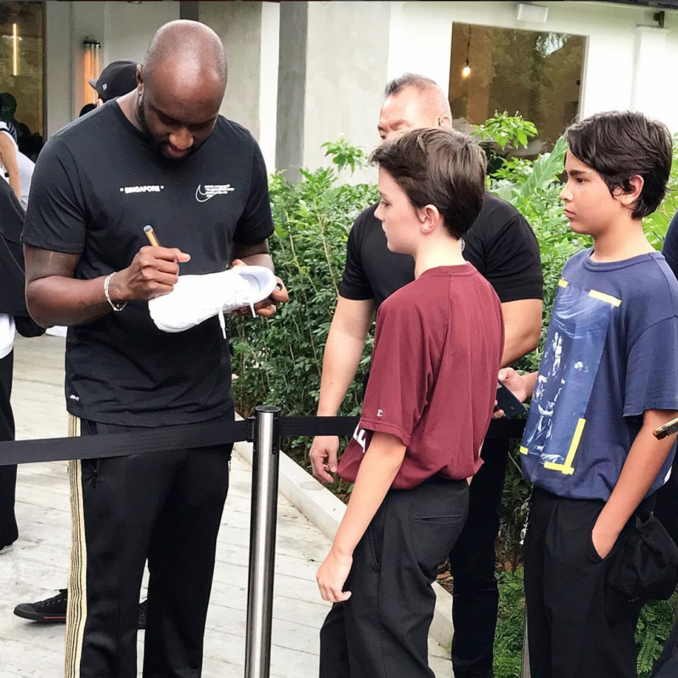
[[[215,273],[235,260],[273,270],[266,167],[249,131],[219,115],[226,79],[210,28],[169,23],[138,66],[136,90],[59,131],[40,154],[23,231],[26,296],[38,323],[70,326],[73,435],[233,418],[218,320],[163,333],[147,303],[171,292],[180,272]],[[147,224],[163,246],[148,246]],[[287,299],[280,287],[261,316]],[[70,463],[66,678],[136,677],[147,557],[143,676],[201,674],[230,451],[159,448]]]

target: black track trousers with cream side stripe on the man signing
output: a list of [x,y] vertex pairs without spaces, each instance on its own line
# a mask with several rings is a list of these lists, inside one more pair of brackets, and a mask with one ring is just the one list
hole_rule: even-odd
[[[135,430],[71,421],[74,435]],[[143,676],[201,674],[231,448],[70,462],[66,678],[136,678],[138,605],[147,558]]]

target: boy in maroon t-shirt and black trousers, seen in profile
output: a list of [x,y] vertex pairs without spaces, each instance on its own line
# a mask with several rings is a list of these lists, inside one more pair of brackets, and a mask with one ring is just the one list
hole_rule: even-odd
[[381,304],[362,418],[339,465],[355,486],[317,574],[335,603],[320,675],[430,678],[431,584],[482,463],[504,323],[494,290],[461,254],[482,206],[480,147],[449,129],[415,129],[372,160],[376,216],[388,249],[415,258],[415,282]]

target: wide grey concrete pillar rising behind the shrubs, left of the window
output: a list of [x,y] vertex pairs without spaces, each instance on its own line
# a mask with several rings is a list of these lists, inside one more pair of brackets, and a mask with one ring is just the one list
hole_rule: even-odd
[[[290,2],[280,11],[280,168],[328,165],[321,145],[341,134],[374,148],[388,74],[390,3]],[[355,180],[374,174],[359,172]]]

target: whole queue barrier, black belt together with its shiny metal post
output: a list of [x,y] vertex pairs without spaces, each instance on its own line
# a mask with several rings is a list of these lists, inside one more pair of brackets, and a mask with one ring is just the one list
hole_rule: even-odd
[[[244,678],[269,678],[280,439],[350,436],[358,421],[358,417],[281,417],[280,408],[261,405],[254,417],[242,422],[212,421],[141,432],[0,443],[0,465],[121,457],[253,442]],[[524,428],[524,420],[493,420],[487,437],[520,438]]]

